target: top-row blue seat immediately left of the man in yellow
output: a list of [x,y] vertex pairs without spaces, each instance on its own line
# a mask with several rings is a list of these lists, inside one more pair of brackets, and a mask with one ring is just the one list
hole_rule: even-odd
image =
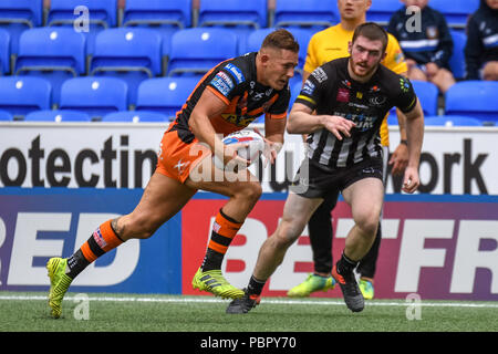
[[340,21],[336,0],[277,0],[274,27],[323,30]]

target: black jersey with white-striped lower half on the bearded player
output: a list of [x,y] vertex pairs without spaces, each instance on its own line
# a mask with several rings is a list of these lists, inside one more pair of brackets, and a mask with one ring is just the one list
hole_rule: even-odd
[[324,128],[309,135],[308,157],[332,168],[382,158],[378,129],[387,112],[397,106],[407,113],[417,102],[412,83],[404,76],[380,65],[369,82],[360,83],[351,79],[347,61],[342,58],[317,67],[295,100],[318,115],[339,115],[356,124],[351,137],[342,140]]

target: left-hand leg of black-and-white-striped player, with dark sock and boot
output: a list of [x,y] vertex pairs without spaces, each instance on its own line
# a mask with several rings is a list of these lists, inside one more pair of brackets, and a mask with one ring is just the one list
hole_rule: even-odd
[[262,289],[283,260],[288,248],[301,236],[321,198],[305,198],[290,192],[277,230],[261,246],[252,277],[242,299],[234,300],[227,313],[247,313],[259,302]]

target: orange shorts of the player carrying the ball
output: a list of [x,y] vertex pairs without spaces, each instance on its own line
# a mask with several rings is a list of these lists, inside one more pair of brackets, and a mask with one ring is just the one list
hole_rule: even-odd
[[166,131],[160,140],[156,171],[169,178],[185,183],[190,170],[211,150],[195,138],[190,144],[181,142],[177,131]]

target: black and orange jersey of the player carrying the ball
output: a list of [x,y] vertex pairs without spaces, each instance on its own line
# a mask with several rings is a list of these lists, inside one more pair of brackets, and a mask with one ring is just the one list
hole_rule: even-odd
[[177,113],[170,131],[177,131],[185,143],[194,140],[188,121],[205,90],[210,90],[227,104],[220,115],[210,119],[216,133],[227,135],[241,131],[263,113],[266,119],[287,118],[289,87],[276,91],[257,81],[257,54],[252,52],[229,59],[206,73]]

